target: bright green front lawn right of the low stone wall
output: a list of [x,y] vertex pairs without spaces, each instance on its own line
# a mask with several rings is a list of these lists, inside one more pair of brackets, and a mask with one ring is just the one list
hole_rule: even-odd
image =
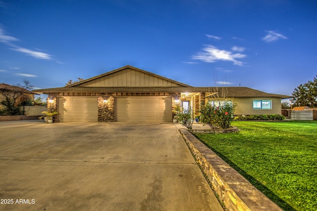
[[285,211],[317,210],[317,121],[233,122],[196,136]]

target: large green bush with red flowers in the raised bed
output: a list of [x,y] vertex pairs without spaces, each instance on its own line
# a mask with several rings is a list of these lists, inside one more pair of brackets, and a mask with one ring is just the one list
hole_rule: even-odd
[[200,121],[209,125],[212,129],[227,129],[233,120],[234,107],[235,105],[227,101],[221,103],[218,107],[208,103],[200,111]]

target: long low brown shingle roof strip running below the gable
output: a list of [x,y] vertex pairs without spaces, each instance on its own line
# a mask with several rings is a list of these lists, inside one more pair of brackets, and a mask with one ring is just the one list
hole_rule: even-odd
[[37,93],[56,93],[56,92],[217,92],[219,96],[226,97],[275,97],[281,99],[291,98],[289,95],[271,94],[260,90],[240,87],[240,86],[227,86],[227,87],[179,87],[179,86],[164,86],[164,87],[58,87],[49,89],[33,90]]

